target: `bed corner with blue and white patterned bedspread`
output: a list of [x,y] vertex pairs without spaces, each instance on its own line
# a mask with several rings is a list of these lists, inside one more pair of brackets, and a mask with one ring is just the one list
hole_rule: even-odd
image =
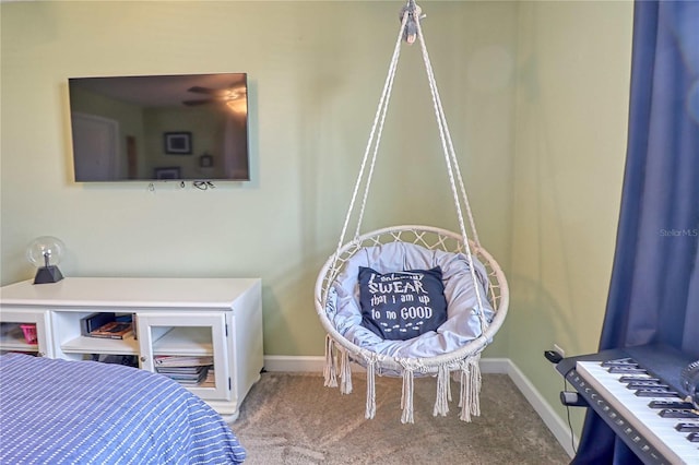
[[166,377],[96,361],[0,356],[0,463],[236,464],[224,419]]

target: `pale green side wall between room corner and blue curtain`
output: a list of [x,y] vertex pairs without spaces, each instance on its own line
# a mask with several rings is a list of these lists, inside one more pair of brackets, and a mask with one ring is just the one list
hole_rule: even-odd
[[[508,355],[565,418],[542,362],[596,351],[626,154],[632,4],[520,4]],[[517,329],[517,330],[514,330]],[[583,409],[572,409],[580,425]]]

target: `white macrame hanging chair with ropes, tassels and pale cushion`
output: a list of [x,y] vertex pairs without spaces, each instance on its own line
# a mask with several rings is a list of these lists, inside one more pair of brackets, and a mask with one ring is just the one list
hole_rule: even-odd
[[[414,0],[410,0],[401,10],[401,27],[389,73],[337,242],[337,249],[324,263],[316,283],[316,311],[323,329],[328,333],[325,338],[324,383],[331,388],[340,386],[341,393],[348,394],[353,390],[351,362],[365,367],[367,371],[365,416],[370,419],[376,414],[375,377],[402,377],[403,396],[401,408],[403,413],[401,421],[413,422],[414,378],[425,375],[437,378],[433,415],[445,416],[449,412],[449,401],[451,401],[451,373],[458,372],[461,383],[459,398],[460,419],[471,421],[472,415],[477,416],[481,414],[478,400],[481,390],[481,370],[478,366],[481,353],[491,342],[505,320],[509,305],[509,290],[500,266],[481,246],[478,240],[420,29],[420,8],[415,4]],[[459,233],[417,225],[392,226],[366,234],[360,231],[383,121],[403,41],[407,44],[418,41],[422,49],[459,219]],[[362,188],[363,196],[358,212],[356,212],[356,229],[353,238],[345,242],[351,217],[355,214],[357,196]],[[469,219],[472,238],[467,236],[464,216]],[[391,257],[387,259],[387,254]],[[450,307],[447,323],[437,331],[425,333],[398,344],[394,342],[389,342],[388,344],[383,342],[376,343],[376,339],[372,339],[371,343],[366,343],[362,336],[357,336],[357,334],[362,333],[360,331],[355,331],[354,335],[350,336],[353,330],[348,330],[348,326],[353,324],[359,325],[360,317],[358,314],[360,313],[352,313],[347,318],[343,312],[345,312],[345,307],[350,308],[351,312],[359,311],[356,309],[359,306],[358,266],[384,265],[400,267],[395,262],[403,264],[403,270],[392,270],[398,272],[408,270],[411,266],[424,266],[427,269],[431,265],[441,265],[442,267],[457,266],[459,269],[455,272],[445,270],[445,279],[448,276],[450,279],[450,283],[445,285],[445,296],[447,297],[447,289],[450,288],[449,296],[453,298],[453,301],[448,302]],[[454,263],[455,265],[453,265]],[[459,298],[453,296],[459,296]],[[463,296],[467,296],[465,300],[463,300]],[[464,303],[464,306],[469,308],[457,308],[459,307],[458,299],[466,302],[467,305]],[[466,325],[451,326],[452,331],[453,327],[465,327],[467,331],[464,331],[463,334],[453,334],[442,330],[455,314],[460,315],[458,318],[470,319]],[[457,317],[453,318],[455,319]]]

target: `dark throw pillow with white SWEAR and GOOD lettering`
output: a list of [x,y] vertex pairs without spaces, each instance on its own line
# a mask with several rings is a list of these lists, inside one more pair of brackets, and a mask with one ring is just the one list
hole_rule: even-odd
[[362,325],[383,339],[405,341],[447,321],[441,269],[381,274],[359,266]]

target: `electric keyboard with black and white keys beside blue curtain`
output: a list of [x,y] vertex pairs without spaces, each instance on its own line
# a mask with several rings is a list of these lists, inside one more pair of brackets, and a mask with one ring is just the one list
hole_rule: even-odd
[[643,463],[699,465],[699,412],[680,381],[691,361],[639,346],[567,358],[556,369]]

